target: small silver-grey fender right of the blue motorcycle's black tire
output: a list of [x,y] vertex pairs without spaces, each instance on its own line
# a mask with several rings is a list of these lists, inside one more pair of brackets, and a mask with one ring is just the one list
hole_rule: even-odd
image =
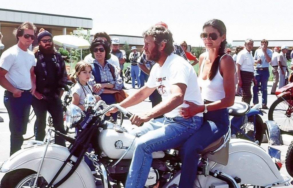
[[270,145],[280,146],[283,145],[281,139],[280,128],[275,121],[265,121],[266,133],[268,135],[268,141]]

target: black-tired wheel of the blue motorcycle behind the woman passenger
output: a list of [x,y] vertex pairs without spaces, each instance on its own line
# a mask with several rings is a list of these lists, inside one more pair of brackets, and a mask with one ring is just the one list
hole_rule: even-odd
[[[263,142],[263,134],[265,129],[263,127],[263,119],[259,115],[255,115],[255,124],[254,124],[254,115],[251,115],[247,118],[247,123],[242,125],[242,130],[245,131],[245,134],[249,137],[254,137],[254,142],[260,145]],[[255,135],[254,134],[255,129]],[[248,139],[245,135],[239,134],[238,138]]]

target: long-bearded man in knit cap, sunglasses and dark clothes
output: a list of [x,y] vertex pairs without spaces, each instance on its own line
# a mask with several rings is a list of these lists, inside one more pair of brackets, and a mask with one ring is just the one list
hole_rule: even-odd
[[[61,88],[67,80],[65,63],[61,54],[54,50],[52,34],[43,28],[38,34],[39,46],[33,50],[37,58],[35,67],[36,91],[32,106],[35,111],[35,138],[43,140],[45,137],[47,111],[53,119],[56,131],[65,133]],[[55,144],[65,146],[65,140],[55,135]]]

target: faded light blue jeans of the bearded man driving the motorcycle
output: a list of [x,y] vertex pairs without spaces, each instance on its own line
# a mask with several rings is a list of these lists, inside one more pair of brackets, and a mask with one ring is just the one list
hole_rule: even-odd
[[[152,153],[182,145],[202,125],[202,117],[160,118],[132,130],[136,138],[125,188],[143,188],[152,163]],[[136,131],[137,130],[137,131]]]

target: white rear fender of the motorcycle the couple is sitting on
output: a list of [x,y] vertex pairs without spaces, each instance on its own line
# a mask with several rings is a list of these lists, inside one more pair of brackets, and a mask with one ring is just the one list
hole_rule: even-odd
[[[214,155],[217,155],[217,152]],[[266,187],[276,183],[276,186],[270,187],[278,187],[284,186],[284,181],[287,178],[280,174],[274,161],[264,149],[253,142],[243,139],[230,140],[229,160],[226,166],[213,161],[209,161],[209,165],[212,172],[219,170],[233,178],[236,176],[241,178],[241,184]],[[174,177],[168,184],[164,185],[164,188],[179,183],[180,175],[176,174]],[[286,180],[289,181],[290,179],[287,178]],[[199,186],[198,182],[200,182],[201,187],[210,187],[213,183],[223,183],[222,180],[215,177],[205,177],[203,175],[197,175],[195,185]],[[278,182],[282,183],[278,185]]]

